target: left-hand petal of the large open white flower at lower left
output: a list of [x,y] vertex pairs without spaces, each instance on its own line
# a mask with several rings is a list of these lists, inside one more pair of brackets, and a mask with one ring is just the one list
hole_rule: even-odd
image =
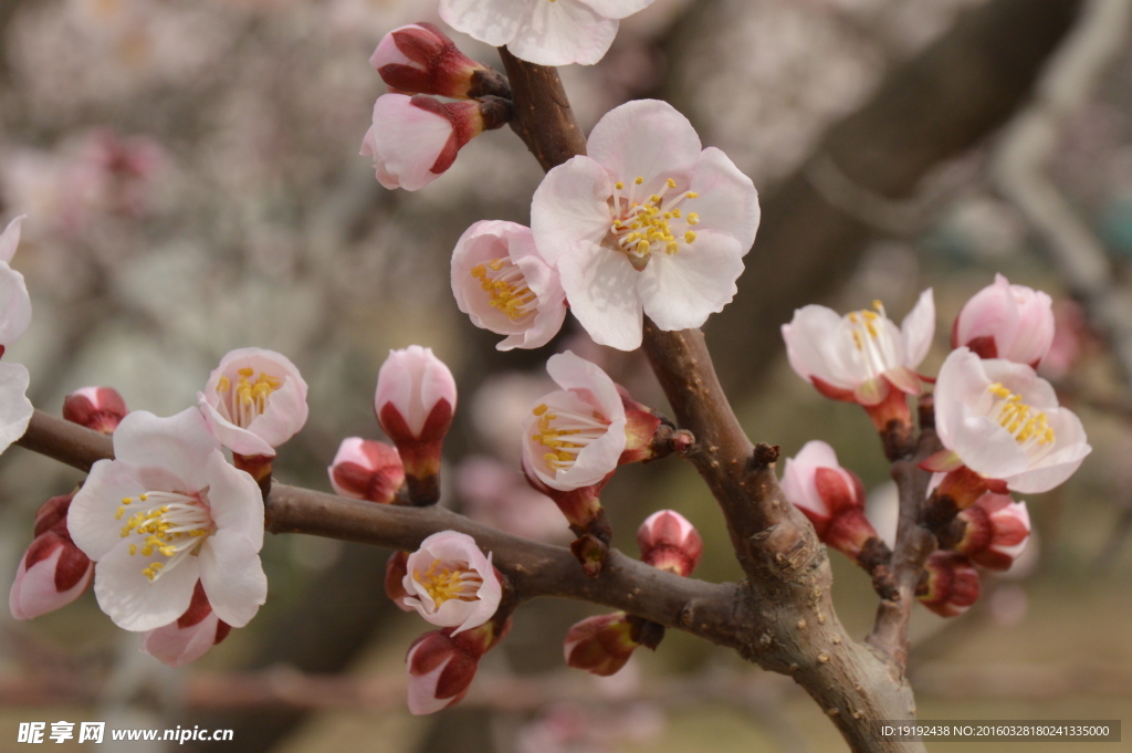
[[[137,498],[148,491],[137,478],[137,470],[120,460],[100,460],[91,468],[67,511],[67,530],[75,545],[97,562],[122,542],[123,520],[115,520],[125,497]],[[128,517],[126,507],[123,519]]]

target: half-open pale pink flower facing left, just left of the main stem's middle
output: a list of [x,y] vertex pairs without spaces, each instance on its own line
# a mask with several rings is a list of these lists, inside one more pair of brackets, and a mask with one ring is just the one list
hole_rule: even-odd
[[547,373],[561,390],[543,395],[523,423],[523,469],[559,491],[599,484],[625,450],[617,385],[571,351],[551,356]]

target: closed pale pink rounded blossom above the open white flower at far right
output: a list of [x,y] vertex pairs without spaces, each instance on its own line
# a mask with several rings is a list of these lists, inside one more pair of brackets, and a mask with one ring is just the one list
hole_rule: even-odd
[[951,330],[951,346],[980,358],[1004,358],[1038,368],[1054,340],[1053,301],[1041,291],[1012,285],[996,274],[963,305]]

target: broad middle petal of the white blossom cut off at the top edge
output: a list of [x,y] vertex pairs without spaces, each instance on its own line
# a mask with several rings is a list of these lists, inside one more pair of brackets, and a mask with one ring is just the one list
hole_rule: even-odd
[[540,66],[592,66],[606,57],[615,36],[617,22],[580,0],[534,0],[507,49]]

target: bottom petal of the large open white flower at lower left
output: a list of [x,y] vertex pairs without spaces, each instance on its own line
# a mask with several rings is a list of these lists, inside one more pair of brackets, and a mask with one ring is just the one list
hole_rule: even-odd
[[115,625],[130,631],[155,630],[189,608],[199,572],[197,557],[186,557],[155,581],[142,573],[149,564],[166,559],[157,551],[151,557],[140,551],[130,555],[123,539],[98,561],[94,568],[94,594]]

